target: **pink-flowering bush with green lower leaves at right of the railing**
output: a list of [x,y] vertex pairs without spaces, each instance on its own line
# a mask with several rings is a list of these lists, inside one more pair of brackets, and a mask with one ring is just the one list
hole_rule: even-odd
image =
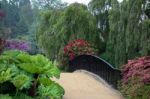
[[150,99],[150,56],[123,66],[120,90],[129,99]]

